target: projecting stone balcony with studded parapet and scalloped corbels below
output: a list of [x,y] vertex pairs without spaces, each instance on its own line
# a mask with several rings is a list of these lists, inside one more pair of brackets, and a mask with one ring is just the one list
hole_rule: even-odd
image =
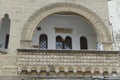
[[[118,74],[120,53],[118,51],[39,50],[18,49],[18,71],[82,72],[84,75],[108,76]],[[82,74],[82,75],[83,75]]]

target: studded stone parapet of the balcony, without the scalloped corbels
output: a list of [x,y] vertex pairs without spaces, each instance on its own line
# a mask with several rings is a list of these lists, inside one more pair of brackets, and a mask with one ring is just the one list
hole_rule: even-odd
[[80,66],[80,67],[120,67],[120,52],[106,51],[18,51],[19,66]]

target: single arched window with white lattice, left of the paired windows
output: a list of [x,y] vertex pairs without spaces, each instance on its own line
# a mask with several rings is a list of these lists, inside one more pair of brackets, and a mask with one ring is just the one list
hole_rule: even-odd
[[40,49],[47,49],[47,43],[48,43],[47,35],[45,34],[40,35],[40,38],[39,38]]

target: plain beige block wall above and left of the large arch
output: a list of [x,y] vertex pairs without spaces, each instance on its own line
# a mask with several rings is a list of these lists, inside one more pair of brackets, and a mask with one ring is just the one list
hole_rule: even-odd
[[17,75],[16,49],[20,48],[21,33],[26,21],[41,7],[56,2],[85,6],[95,12],[108,26],[107,0],[0,0],[0,19],[7,13],[11,20],[7,54],[0,52],[0,75]]

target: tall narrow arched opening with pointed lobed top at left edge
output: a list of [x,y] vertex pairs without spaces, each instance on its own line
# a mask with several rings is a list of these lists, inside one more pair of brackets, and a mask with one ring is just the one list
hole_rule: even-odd
[[1,28],[0,28],[0,48],[7,49],[9,44],[9,36],[10,36],[10,18],[6,13],[1,20]]

